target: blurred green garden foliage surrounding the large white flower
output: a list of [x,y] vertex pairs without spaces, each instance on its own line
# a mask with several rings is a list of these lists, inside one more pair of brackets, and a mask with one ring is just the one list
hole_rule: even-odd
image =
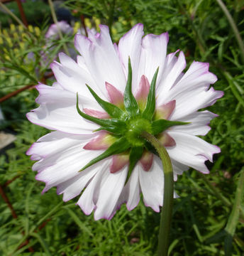
[[48,132],[28,122],[26,113],[38,107],[33,85],[52,85],[50,63],[57,53],[75,55],[74,33],[99,31],[99,23],[118,42],[139,22],[145,33],[169,32],[167,53],[183,50],[188,65],[210,63],[218,76],[214,88],[225,93],[208,108],[219,117],[205,139],[221,147],[207,163],[210,174],[190,169],[175,182],[180,198],[174,200],[169,255],[244,255],[244,1],[55,1],[57,19],[70,22],[72,32],[48,38],[55,20],[50,4],[23,1],[28,26],[4,9],[21,18],[14,1],[0,6],[0,129],[15,139],[0,151],[0,255],[155,255],[159,213],[141,200],[132,211],[123,205],[112,220],[94,221],[76,198],[63,203],[55,188],[41,195],[45,185],[35,181],[26,156]]

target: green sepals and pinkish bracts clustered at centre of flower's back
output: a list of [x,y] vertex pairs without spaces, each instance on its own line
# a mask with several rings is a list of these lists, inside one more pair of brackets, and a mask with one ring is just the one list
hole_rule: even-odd
[[[175,102],[168,102],[162,105],[155,111],[155,85],[157,80],[158,68],[153,76],[151,85],[149,85],[148,78],[145,75],[140,80],[140,90],[138,91],[136,99],[131,91],[132,82],[132,68],[131,60],[128,60],[128,80],[126,90],[122,96],[121,92],[116,92],[113,85],[109,85],[109,95],[111,95],[111,102],[117,99],[120,102],[120,107],[117,107],[111,102],[102,100],[96,92],[94,92],[89,85],[87,85],[91,95],[96,102],[106,112],[97,113],[94,110],[85,110],[82,112],[79,109],[79,97],[77,93],[77,112],[91,122],[101,125],[99,129],[106,132],[100,132],[99,137],[88,142],[84,149],[99,150],[106,149],[102,154],[89,161],[89,163],[82,168],[81,171],[87,167],[96,164],[98,161],[105,159],[111,155],[115,155],[110,166],[111,173],[120,171],[126,164],[129,164],[128,176],[135,167],[138,161],[141,162],[143,169],[149,171],[153,163],[153,153],[157,154],[155,149],[142,137],[143,132],[155,135],[160,140],[162,146],[174,146],[175,142],[166,130],[175,125],[189,124],[188,122],[175,122],[167,120],[174,110]],[[123,97],[123,103],[119,97]],[[114,100],[116,102],[116,100]],[[139,103],[140,102],[140,103]],[[99,118],[99,117],[106,117]]]

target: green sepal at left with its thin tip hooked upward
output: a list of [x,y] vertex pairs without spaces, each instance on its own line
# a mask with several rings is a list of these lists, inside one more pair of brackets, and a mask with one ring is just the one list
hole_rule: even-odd
[[[79,99],[78,99],[78,93],[77,93],[77,112],[84,117],[84,119],[87,119],[91,122],[94,122],[96,124],[101,125],[102,129],[112,132],[114,134],[123,134],[126,132],[126,123],[118,120],[118,119],[100,119],[96,117],[91,117],[89,114],[83,113],[79,109]],[[99,128],[101,129],[101,128]]]

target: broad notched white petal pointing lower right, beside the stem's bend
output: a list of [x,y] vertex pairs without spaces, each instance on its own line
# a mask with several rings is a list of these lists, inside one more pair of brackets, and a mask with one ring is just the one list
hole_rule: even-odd
[[167,152],[172,159],[203,173],[209,173],[204,162],[207,159],[213,160],[213,154],[220,152],[218,146],[183,132],[168,131],[168,134],[176,142],[176,146],[167,148]]

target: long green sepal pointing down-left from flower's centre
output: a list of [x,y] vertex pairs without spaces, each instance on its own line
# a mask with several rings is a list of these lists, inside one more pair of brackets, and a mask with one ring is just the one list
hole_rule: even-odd
[[111,144],[111,146],[109,146],[109,149],[106,149],[104,153],[102,153],[99,156],[96,156],[96,158],[89,161],[89,163],[86,164],[80,171],[84,171],[84,169],[87,169],[87,167],[92,166],[93,164],[96,164],[98,161],[101,161],[106,157],[109,157],[114,154],[121,154],[124,151],[126,151],[130,146],[131,144],[128,142],[128,140],[124,137],[121,137],[116,142]]

